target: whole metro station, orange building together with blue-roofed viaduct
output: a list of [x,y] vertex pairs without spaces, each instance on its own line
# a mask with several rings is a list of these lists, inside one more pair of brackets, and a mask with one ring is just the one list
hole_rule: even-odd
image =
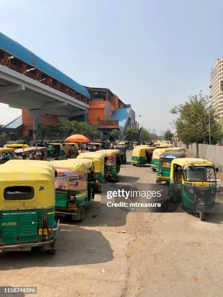
[[110,89],[85,87],[75,82],[2,33],[0,82],[0,102],[22,110],[22,115],[0,128],[0,132],[15,131],[32,139],[38,123],[58,124],[66,120],[85,121],[101,134],[117,129],[121,132],[120,138],[126,129],[137,128],[131,105],[125,104]]

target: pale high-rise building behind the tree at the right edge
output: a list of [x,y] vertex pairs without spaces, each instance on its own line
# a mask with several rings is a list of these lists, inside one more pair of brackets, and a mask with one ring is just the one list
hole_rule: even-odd
[[215,60],[210,73],[210,103],[223,118],[223,58]]

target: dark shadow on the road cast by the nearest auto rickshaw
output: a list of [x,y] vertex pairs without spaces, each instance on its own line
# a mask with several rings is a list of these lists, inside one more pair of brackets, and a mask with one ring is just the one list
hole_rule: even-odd
[[112,261],[113,258],[113,250],[100,231],[60,225],[55,255],[44,254],[39,249],[0,252],[0,269],[98,264]]

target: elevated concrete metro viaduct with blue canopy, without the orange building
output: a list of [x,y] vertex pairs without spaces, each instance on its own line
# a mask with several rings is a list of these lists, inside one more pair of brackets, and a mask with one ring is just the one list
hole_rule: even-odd
[[29,111],[34,130],[45,114],[86,120],[89,100],[84,86],[0,33],[0,102]]

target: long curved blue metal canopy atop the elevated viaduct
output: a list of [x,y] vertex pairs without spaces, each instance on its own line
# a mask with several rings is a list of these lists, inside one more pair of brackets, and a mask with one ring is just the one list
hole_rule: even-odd
[[8,36],[0,32],[0,49],[7,51],[14,57],[24,61],[25,63],[34,66],[34,68],[39,69],[40,71],[48,74],[49,76],[55,78],[59,82],[62,82],[72,88],[73,90],[79,92],[80,94],[90,98],[88,90],[78,82],[75,82],[69,76],[53,67],[49,63],[45,62],[38,56],[36,56],[32,51],[26,49],[18,42],[12,40]]

